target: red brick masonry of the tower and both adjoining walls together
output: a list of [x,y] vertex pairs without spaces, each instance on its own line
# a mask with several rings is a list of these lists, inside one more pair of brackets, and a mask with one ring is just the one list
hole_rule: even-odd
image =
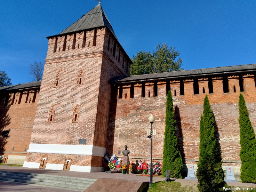
[[[153,114],[153,129],[156,129],[153,159],[162,162],[166,92],[170,87],[184,170],[189,164],[197,169],[200,116],[207,94],[215,116],[215,136],[222,151],[223,167],[232,166],[239,176],[240,85],[256,132],[256,78],[253,72],[225,75],[228,76],[225,93],[223,75],[218,74],[113,83],[119,77],[129,76],[131,60],[108,28],[48,38],[40,93],[38,88],[0,95],[1,118],[6,121],[1,128],[10,131],[8,137],[1,137],[1,158],[11,161],[15,159],[13,156],[22,156],[24,161],[26,156],[26,162],[40,163],[40,168],[45,168],[47,163],[64,166],[67,159],[71,160],[67,170],[70,165],[101,167],[101,156],[26,152],[29,143],[78,145],[79,139],[86,139],[86,145],[106,148],[108,155],[117,155],[127,144],[131,151],[130,162],[146,160],[149,163],[147,129],[151,128],[148,117]],[[242,84],[239,83],[241,76]],[[212,79],[213,93],[209,92],[208,77]],[[184,90],[180,89],[180,82],[184,82]],[[199,94],[194,94],[197,91]],[[6,100],[7,106],[4,106]],[[46,158],[44,163],[43,158]]]

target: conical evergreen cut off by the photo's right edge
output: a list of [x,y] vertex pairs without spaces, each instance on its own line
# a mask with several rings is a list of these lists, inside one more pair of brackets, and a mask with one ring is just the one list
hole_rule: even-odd
[[256,183],[256,139],[244,96],[239,96],[239,125],[240,125],[240,158],[242,161],[240,179],[247,183]]

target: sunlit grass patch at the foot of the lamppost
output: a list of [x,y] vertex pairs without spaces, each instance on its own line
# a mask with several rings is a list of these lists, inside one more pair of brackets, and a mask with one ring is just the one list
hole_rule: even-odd
[[185,186],[181,187],[181,184],[179,182],[165,182],[165,181],[160,181],[157,183],[153,183],[148,188],[148,192],[170,192],[170,191],[175,191],[175,192],[194,192],[195,190],[191,186]]

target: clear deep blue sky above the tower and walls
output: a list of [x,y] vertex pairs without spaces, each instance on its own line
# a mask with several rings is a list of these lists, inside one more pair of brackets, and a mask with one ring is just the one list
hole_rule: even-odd
[[[185,69],[256,63],[256,1],[101,3],[130,57],[166,43],[180,52]],[[12,84],[31,82],[29,64],[44,62],[45,37],[60,33],[97,4],[95,0],[1,0],[0,70]]]

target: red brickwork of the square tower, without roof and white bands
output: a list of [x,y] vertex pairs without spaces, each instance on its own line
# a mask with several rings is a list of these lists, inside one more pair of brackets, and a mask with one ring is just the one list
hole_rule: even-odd
[[[127,76],[129,70],[126,72],[121,63],[123,57],[127,60],[126,53],[122,50],[119,59],[121,46],[118,43],[117,58],[113,56],[113,52],[110,53],[110,49],[113,51],[114,46],[112,41],[108,51],[109,33],[106,28],[97,29],[96,46],[93,46],[93,36],[94,30],[86,31],[86,46],[82,47],[84,32],[76,33],[76,46],[72,49],[74,34],[68,35],[66,51],[62,51],[65,36],[58,37],[56,52],[53,51],[56,37],[49,39],[40,99],[30,143],[78,145],[79,139],[86,139],[86,145],[106,148],[111,98],[109,82],[117,77]],[[83,83],[77,85],[81,70]],[[56,87],[57,75],[59,83]],[[76,106],[79,108],[79,116],[78,122],[74,123],[72,119]],[[49,122],[52,108],[54,108],[53,119]],[[39,161],[43,154],[37,155],[28,153],[26,161],[35,162],[35,158],[39,158],[37,159]],[[48,154],[47,163],[58,164],[59,160],[53,156],[54,154]],[[65,155],[56,156],[63,161],[69,158]],[[87,165],[81,158],[79,159],[81,160],[77,160],[80,161],[79,163],[72,159],[72,164]],[[96,162],[98,161],[97,159]],[[101,165],[102,157],[100,162]],[[93,163],[99,166],[99,162]]]

